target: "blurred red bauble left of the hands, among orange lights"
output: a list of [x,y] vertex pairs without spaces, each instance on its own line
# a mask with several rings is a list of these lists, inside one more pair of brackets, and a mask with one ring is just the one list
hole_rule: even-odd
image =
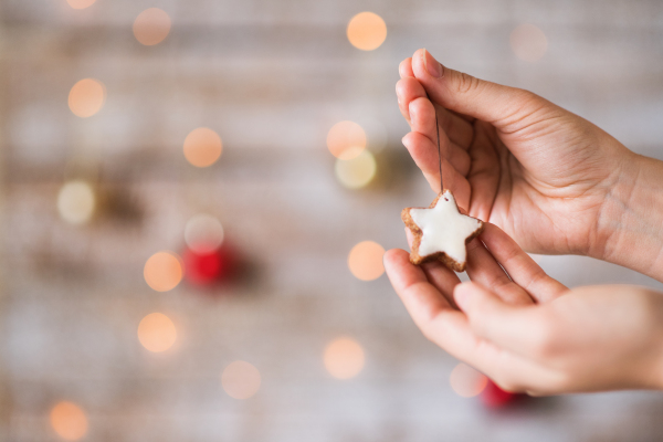
[[198,286],[211,286],[232,278],[238,270],[238,253],[223,244],[211,252],[194,252],[185,249],[185,278]]

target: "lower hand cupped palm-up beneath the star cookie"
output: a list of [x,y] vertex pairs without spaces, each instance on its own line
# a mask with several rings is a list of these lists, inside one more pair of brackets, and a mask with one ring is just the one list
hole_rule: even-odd
[[396,249],[385,255],[414,323],[454,357],[505,390],[536,396],[663,388],[662,294],[569,291],[488,223],[467,259],[472,282],[461,284],[440,263],[415,266]]

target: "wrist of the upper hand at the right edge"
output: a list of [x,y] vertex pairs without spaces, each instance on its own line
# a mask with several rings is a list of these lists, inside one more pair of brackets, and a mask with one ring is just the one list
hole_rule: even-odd
[[663,281],[663,161],[622,159],[597,220],[599,259]]

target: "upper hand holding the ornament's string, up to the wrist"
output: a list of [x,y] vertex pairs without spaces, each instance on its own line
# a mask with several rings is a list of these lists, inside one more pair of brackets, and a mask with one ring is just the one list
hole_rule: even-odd
[[435,192],[436,112],[444,187],[472,217],[529,252],[585,254],[646,272],[649,256],[632,263],[610,249],[623,242],[618,230],[639,156],[530,92],[450,70],[425,50],[399,71],[398,102],[412,130],[403,144]]

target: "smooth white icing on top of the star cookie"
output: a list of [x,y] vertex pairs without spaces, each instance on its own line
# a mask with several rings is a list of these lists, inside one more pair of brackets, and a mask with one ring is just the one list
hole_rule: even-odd
[[421,229],[419,254],[427,256],[444,252],[463,264],[467,256],[465,240],[481,228],[481,221],[459,211],[453,194],[444,191],[432,209],[410,209],[412,221]]

